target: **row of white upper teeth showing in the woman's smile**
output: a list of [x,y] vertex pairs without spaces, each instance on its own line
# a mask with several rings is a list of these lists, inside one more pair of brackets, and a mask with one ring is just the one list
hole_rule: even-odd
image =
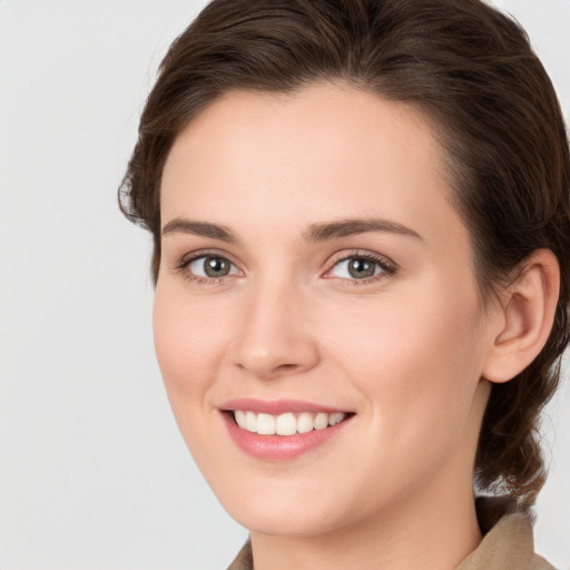
[[336,425],[346,417],[346,414],[343,412],[332,414],[325,412],[317,414],[303,412],[296,416],[294,413],[287,412],[276,416],[235,410],[234,417],[242,430],[253,433],[261,435],[294,435],[295,433],[308,433],[313,430],[324,430],[330,425]]

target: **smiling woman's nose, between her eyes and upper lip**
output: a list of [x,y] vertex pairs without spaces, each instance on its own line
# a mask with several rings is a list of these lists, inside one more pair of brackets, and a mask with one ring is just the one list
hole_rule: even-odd
[[249,291],[234,343],[234,363],[263,380],[313,368],[320,355],[305,307],[306,301],[293,287]]

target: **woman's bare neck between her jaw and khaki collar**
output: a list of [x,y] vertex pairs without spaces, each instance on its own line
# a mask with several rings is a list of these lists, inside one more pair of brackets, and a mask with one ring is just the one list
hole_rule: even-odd
[[451,570],[476,548],[481,531],[471,487],[462,493],[443,491],[425,493],[423,489],[421,497],[409,495],[374,520],[325,534],[252,532],[255,570]]

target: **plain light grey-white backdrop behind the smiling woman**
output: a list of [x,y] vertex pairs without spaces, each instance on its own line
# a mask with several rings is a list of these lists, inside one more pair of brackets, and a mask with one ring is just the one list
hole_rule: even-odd
[[[568,117],[570,1],[497,3],[527,27]],[[222,569],[246,538],[171,417],[149,237],[116,199],[157,65],[203,4],[0,0],[1,570]],[[544,423],[535,527],[561,569],[569,384]]]

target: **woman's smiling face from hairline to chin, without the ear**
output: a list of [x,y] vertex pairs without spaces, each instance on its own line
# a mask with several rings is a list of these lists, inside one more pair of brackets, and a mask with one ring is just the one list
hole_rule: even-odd
[[175,141],[156,351],[248,529],[315,535],[471,493],[492,338],[450,195],[422,116],[348,87],[232,92]]

